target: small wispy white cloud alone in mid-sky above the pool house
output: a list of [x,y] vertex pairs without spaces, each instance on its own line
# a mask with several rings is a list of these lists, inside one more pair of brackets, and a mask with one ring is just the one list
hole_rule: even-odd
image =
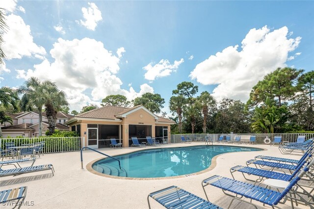
[[183,62],[183,58],[181,58],[179,61],[175,60],[173,64],[170,64],[169,60],[167,59],[161,59],[154,66],[153,62],[151,62],[143,67],[143,69],[147,71],[144,77],[148,80],[155,80],[156,78],[170,76],[172,72],[176,72],[176,70],[179,68],[179,65]]

